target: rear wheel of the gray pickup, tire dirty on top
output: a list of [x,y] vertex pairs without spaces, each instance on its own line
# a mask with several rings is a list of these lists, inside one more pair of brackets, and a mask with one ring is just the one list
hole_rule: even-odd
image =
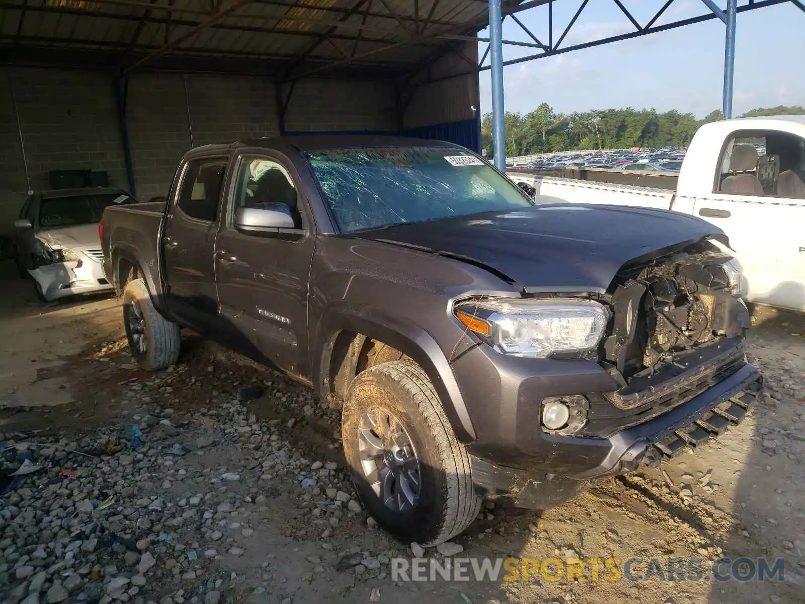
[[179,358],[179,325],[157,312],[142,279],[129,281],[123,290],[123,325],[131,356],[142,369],[165,369]]

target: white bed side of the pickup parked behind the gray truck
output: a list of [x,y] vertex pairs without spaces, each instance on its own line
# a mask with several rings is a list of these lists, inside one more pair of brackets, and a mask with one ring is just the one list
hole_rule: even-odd
[[506,174],[515,183],[525,182],[534,187],[538,204],[634,205],[641,208],[671,209],[675,195],[674,191],[666,188],[572,180],[523,172]]

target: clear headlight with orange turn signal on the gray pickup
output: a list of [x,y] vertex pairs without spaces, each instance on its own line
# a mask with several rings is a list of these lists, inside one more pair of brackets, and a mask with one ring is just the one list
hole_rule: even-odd
[[580,357],[597,348],[609,312],[592,300],[481,298],[456,304],[467,329],[503,354]]

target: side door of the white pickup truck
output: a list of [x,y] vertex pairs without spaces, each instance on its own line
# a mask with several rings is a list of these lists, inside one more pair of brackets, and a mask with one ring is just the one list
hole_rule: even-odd
[[[744,268],[744,296],[750,302],[805,311],[805,200],[779,197],[774,184],[750,192],[756,171],[731,171],[735,144],[757,144],[762,133],[738,132],[718,163],[715,191],[698,197],[693,214],[719,226]],[[759,157],[758,157],[759,159]],[[741,177],[742,193],[722,192],[725,178]]]

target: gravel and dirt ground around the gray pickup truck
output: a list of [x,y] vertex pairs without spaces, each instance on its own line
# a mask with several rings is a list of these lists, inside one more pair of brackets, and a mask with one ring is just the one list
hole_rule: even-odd
[[[705,569],[722,556],[779,556],[784,581],[394,582],[390,560],[411,550],[353,499],[335,409],[192,334],[179,364],[143,373],[126,354],[115,307],[82,300],[14,315],[14,329],[27,325],[20,316],[42,315],[37,321],[55,325],[47,337],[84,340],[80,352],[43,347],[50,362],[37,379],[0,391],[0,601],[805,601],[805,327],[797,316],[756,312],[749,354],[769,388],[719,441],[551,511],[488,503],[453,544],[424,552],[440,561],[444,553],[698,556]],[[87,308],[95,322],[82,332]],[[27,336],[26,350],[35,350],[31,338],[45,334]],[[0,358],[11,358],[16,345],[3,342]],[[49,406],[42,397],[52,391],[30,388],[56,374],[65,381],[52,391],[68,395]],[[34,471],[7,476],[20,468]]]

